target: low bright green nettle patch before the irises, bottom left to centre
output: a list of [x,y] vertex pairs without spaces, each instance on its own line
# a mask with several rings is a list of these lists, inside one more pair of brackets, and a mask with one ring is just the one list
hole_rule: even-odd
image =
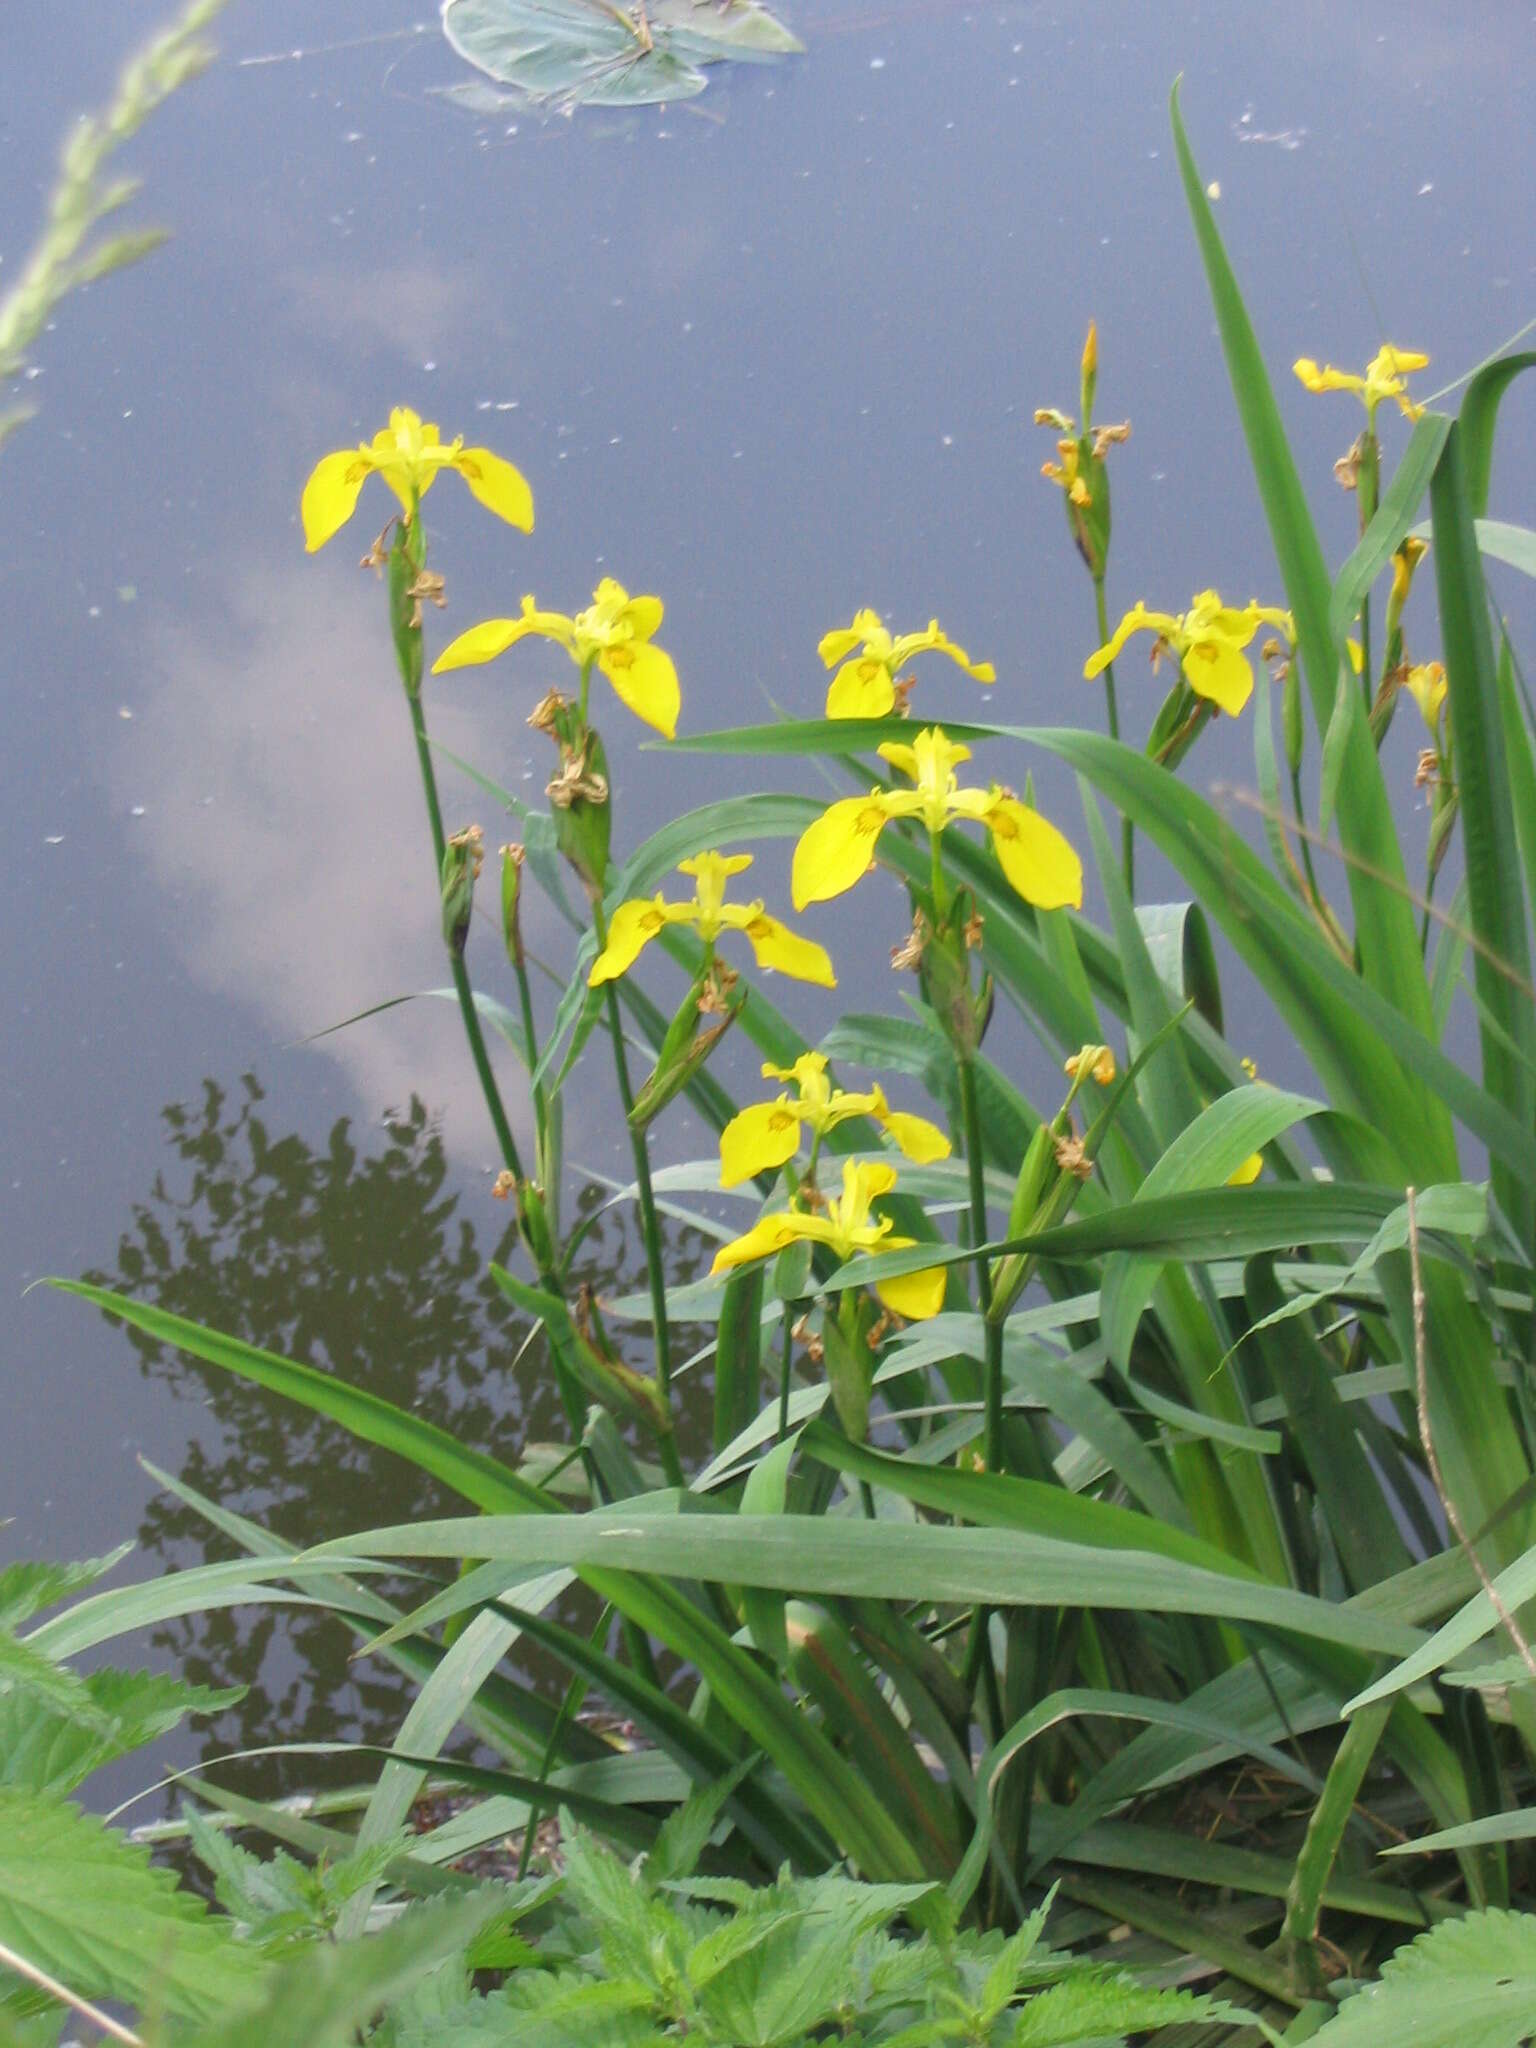
[[[33,1593],[43,1575],[53,1593],[80,1577],[33,1569]],[[14,1569],[4,1589],[23,1577]],[[51,1686],[33,1683],[25,1698],[0,1692],[20,1753],[35,1759],[49,1739],[68,1747],[70,1733],[96,1724],[86,1683],[63,1663],[39,1655],[37,1665],[51,1669]],[[186,1692],[180,1704],[209,1702]],[[162,1702],[162,1726],[166,1712]],[[934,1884],[700,1876],[739,1772],[684,1800],[635,1866],[563,1815],[561,1874],[528,1882],[446,1872],[426,1882],[430,1866],[414,1862],[408,1837],[336,1860],[324,1847],[264,1860],[188,1808],[190,1849],[223,1909],[211,1913],[141,1847],[57,1790],[27,1784],[16,1753],[10,1767],[0,1788],[0,1956],[20,1960],[25,1980],[0,1999],[0,2040],[55,2042],[49,1993],[59,1991],[86,2017],[100,1999],[129,2003],[147,2015],[143,2042],[162,2048],[340,2048],[358,2028],[381,2048],[684,2038],[717,2048],[827,2038],[1057,2048],[1151,2025],[1247,2021],[1219,1999],[1044,1948],[1049,1901],[1004,1939],[956,1929]],[[297,1835],[309,1847],[324,1839],[303,1823]],[[408,1892],[436,1896],[338,1944],[348,1901],[391,1874]]]

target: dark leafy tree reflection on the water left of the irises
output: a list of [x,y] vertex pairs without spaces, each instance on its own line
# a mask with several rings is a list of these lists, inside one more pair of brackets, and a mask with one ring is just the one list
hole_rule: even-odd
[[[487,1200],[504,1229],[481,1241],[424,1104],[391,1112],[373,1141],[340,1118],[315,1147],[295,1133],[274,1137],[262,1102],[246,1073],[233,1092],[209,1079],[201,1102],[162,1112],[172,1163],[133,1206],[117,1268],[88,1278],[336,1372],[508,1462],[528,1444],[563,1440],[545,1348],[535,1341],[518,1360],[526,1323],[485,1270],[489,1260],[518,1257],[516,1231]],[[602,1200],[588,1186],[578,1217]],[[674,1278],[698,1272],[702,1251],[698,1233],[670,1227]],[[639,1237],[623,1210],[592,1225],[573,1278],[600,1296],[641,1284]],[[465,1511],[416,1466],[336,1423],[139,1331],[127,1335],[145,1374],[203,1391],[219,1436],[188,1444],[182,1477],[221,1507],[291,1542]],[[172,1495],[150,1503],[139,1544],[162,1567],[231,1554]],[[354,1638],[303,1608],[197,1614],[154,1640],[190,1679],[250,1688],[240,1706],[203,1724],[203,1755],[276,1739],[389,1741],[410,1704],[391,1665],[352,1663]],[[346,1759],[334,1772],[326,1761],[262,1772],[260,1788],[358,1776]]]

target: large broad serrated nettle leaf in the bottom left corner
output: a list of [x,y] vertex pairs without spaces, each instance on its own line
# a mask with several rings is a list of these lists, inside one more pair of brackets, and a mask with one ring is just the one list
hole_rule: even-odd
[[88,1999],[209,2019],[252,1997],[260,1960],[94,1815],[0,1788],[0,1942]]

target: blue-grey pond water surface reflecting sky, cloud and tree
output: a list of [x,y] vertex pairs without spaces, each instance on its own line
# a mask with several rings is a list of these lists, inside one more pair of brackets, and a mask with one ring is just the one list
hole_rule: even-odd
[[[70,113],[162,12],[125,0],[109,23],[55,0],[8,20],[0,285]],[[440,485],[451,629],[524,590],[575,608],[602,573],[657,590],[686,729],[819,709],[815,641],[860,604],[899,627],[936,612],[997,664],[1006,717],[1098,723],[1090,588],[1032,424],[1073,406],[1090,313],[1100,412],[1135,422],[1112,600],[1280,598],[1171,160],[1178,72],[1335,559],[1354,504],[1329,465],[1356,422],[1300,393],[1290,358],[1356,365],[1391,338],[1434,354],[1434,389],[1532,311],[1528,4],[784,14],[805,57],[721,70],[690,104],[563,119],[446,98],[469,74],[406,0],[319,16],[236,0],[217,70],[133,147],[141,211],[174,242],[63,307],[27,393],[39,414],[0,457],[0,1477],[25,1552],[139,1532],[150,1561],[197,1554],[135,1454],[293,1532],[426,1499],[250,1389],[18,1298],[37,1274],[106,1274],[504,1450],[551,1413],[481,1278],[506,1212],[453,1012],[297,1042],[440,981],[416,764],[381,600],[354,569],[387,508],[365,500],[307,559],[297,498],[317,455],[391,403],[502,449],[539,524],[508,535]],[[1493,508],[1526,522],[1532,418],[1518,395]],[[1526,590],[1501,596],[1530,623]],[[1143,676],[1126,664],[1135,735]],[[551,678],[532,653],[444,678],[434,729],[535,791],[524,717]],[[926,684],[930,711],[981,702],[958,674]],[[623,848],[754,782],[752,764],[643,754],[639,727],[604,723]],[[1411,735],[1393,745],[1407,803]],[[1190,772],[1251,784],[1247,727],[1208,735]],[[1059,774],[1040,793],[1075,821]],[[453,776],[444,803],[451,825],[485,813]],[[760,854],[766,889],[784,866]],[[809,1030],[889,1001],[885,909],[817,924],[842,989],[795,997]],[[532,938],[567,958],[553,918]],[[1241,989],[1229,1030],[1300,1077]],[[1010,1057],[1040,1071],[1030,1047]],[[664,1143],[702,1149],[682,1116]],[[596,1083],[567,1149],[625,1174]],[[627,1264],[616,1227],[594,1260]],[[391,1696],[319,1630],[268,1645],[213,1618],[188,1640],[217,1675],[260,1665],[250,1733],[389,1726]]]

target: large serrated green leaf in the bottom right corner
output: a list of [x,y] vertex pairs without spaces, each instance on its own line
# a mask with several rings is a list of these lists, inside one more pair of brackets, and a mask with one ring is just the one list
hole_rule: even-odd
[[1536,1913],[1444,1921],[1382,1964],[1313,2036],[1319,2048],[1520,2048],[1536,2013]]

